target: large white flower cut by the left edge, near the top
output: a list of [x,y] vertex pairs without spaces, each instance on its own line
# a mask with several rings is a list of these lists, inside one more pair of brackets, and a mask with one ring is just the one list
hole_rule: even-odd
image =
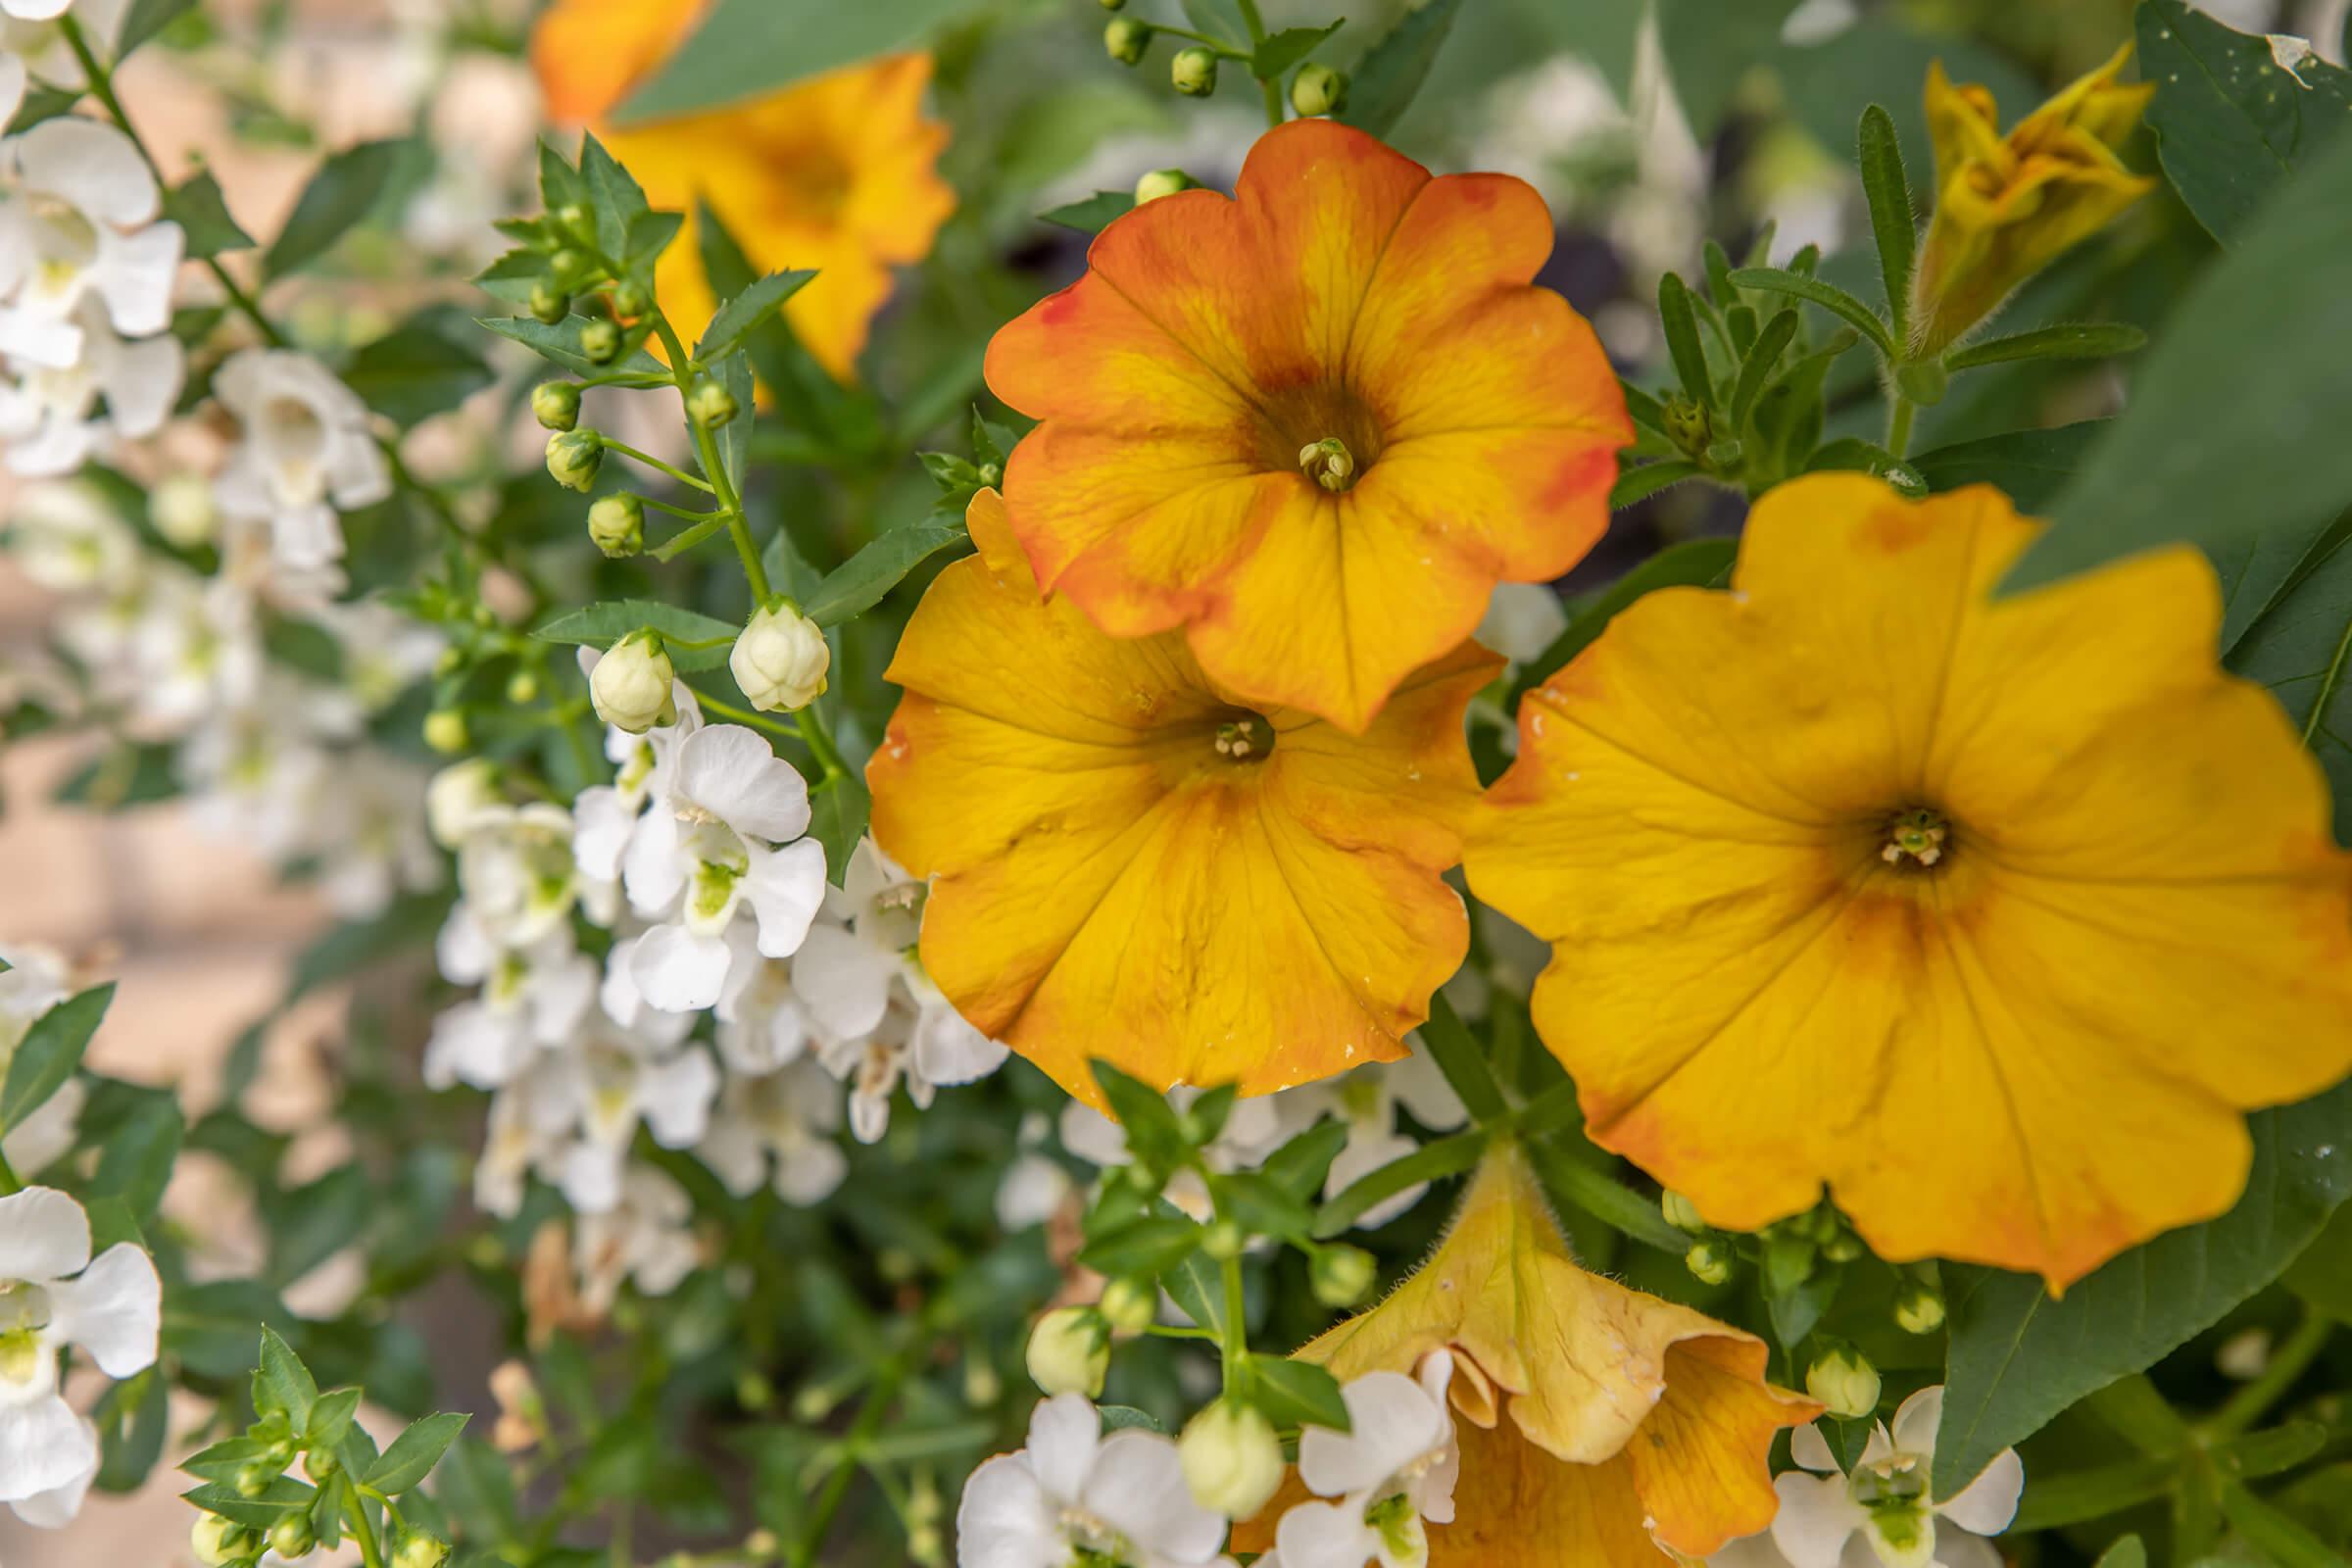
[[47,369],[82,362],[85,299],[125,339],[172,324],[183,235],[158,221],[162,193],[113,125],[59,115],[0,143],[14,190],[0,200],[0,353]]

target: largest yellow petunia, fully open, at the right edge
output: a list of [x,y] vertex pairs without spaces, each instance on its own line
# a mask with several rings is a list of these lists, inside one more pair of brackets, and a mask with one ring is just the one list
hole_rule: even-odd
[[2039,524],[1818,475],[1731,592],[1529,693],[1465,853],[1552,943],[1588,1133],[1755,1229],[2065,1286],[2227,1208],[2241,1112],[2352,1072],[2352,858],[2194,550],[1992,599]]

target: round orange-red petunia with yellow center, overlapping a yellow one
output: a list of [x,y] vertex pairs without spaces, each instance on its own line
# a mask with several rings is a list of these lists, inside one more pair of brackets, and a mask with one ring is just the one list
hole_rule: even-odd
[[1268,132],[1232,200],[1122,216],[988,346],[1042,421],[1004,480],[1037,581],[1362,731],[1498,581],[1559,576],[1609,522],[1632,423],[1592,329],[1529,284],[1550,249],[1524,183],[1430,179],[1329,120]]

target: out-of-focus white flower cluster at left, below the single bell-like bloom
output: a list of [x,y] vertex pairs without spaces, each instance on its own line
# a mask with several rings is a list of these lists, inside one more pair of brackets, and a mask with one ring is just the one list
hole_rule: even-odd
[[[151,505],[162,529],[186,494],[167,482]],[[285,597],[233,559],[202,576],[143,548],[80,480],[26,484],[7,541],[26,574],[66,599],[54,635],[85,675],[92,717],[174,743],[200,825],[278,863],[315,865],[346,919],[440,882],[423,769],[367,745],[369,715],[433,668],[437,632],[383,604]],[[325,632],[339,679],[273,661],[270,616]]]

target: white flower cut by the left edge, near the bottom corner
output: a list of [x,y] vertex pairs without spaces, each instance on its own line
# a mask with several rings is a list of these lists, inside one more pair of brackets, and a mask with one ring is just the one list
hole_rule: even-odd
[[54,1505],[96,1465],[96,1434],[59,1394],[59,1352],[129,1378],[155,1366],[160,1321],[143,1251],[118,1241],[92,1258],[89,1215],[54,1187],[0,1197],[0,1502]]

